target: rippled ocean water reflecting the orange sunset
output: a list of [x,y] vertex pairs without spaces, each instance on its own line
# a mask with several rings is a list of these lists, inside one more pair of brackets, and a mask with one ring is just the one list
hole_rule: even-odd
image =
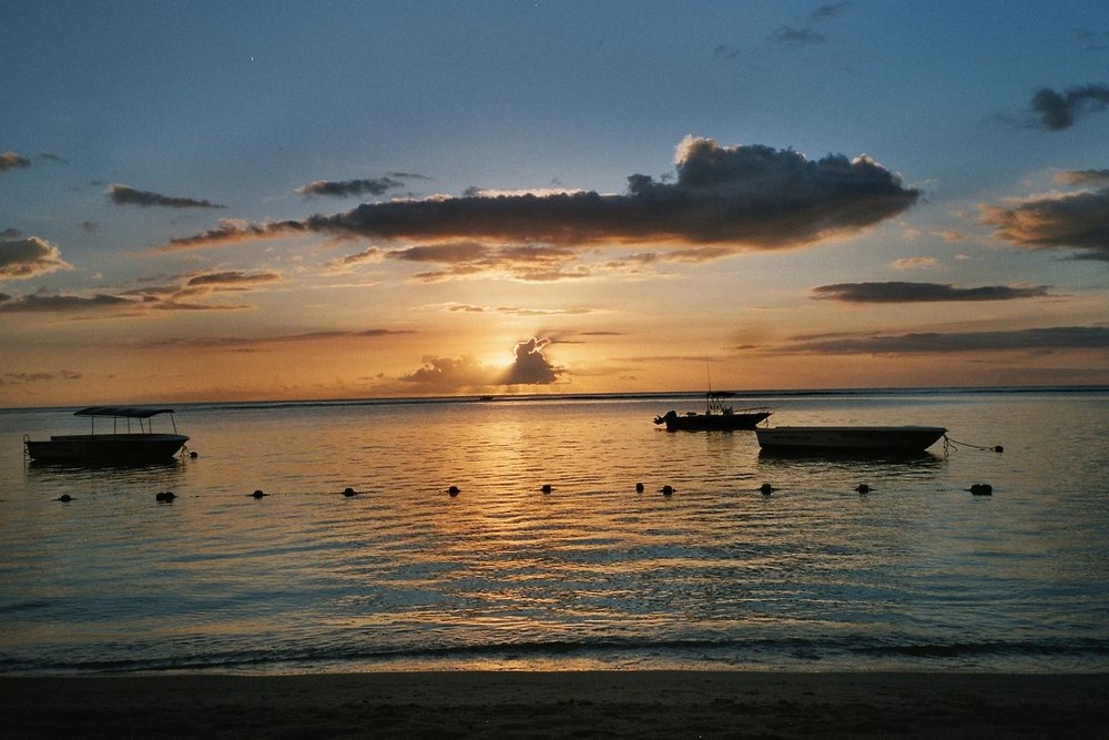
[[740,404],[956,440],[909,459],[652,424],[700,403],[186,405],[196,458],[94,470],[0,410],[0,672],[1109,669],[1109,389]]

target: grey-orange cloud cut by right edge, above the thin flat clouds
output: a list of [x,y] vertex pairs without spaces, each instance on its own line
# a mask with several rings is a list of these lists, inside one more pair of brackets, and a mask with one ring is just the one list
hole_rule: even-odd
[[979,204],[980,222],[1010,244],[1032,250],[1086,250],[1077,260],[1109,261],[1109,187],[1038,195],[1005,205]]

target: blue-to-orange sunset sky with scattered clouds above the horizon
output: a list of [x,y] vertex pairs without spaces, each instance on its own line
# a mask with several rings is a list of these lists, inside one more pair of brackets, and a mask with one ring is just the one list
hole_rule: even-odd
[[0,407],[1109,384],[1109,3],[0,7]]

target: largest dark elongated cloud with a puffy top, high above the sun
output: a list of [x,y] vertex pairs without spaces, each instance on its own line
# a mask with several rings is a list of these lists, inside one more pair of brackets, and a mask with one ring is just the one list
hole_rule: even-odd
[[783,250],[853,235],[901,214],[919,195],[867,156],[830,154],[812,161],[793,150],[720,146],[693,136],[678,148],[676,171],[675,182],[631,175],[622,195],[440,196],[364,203],[303,221],[223,222],[162,249],[328,233],[501,247],[655,243]]

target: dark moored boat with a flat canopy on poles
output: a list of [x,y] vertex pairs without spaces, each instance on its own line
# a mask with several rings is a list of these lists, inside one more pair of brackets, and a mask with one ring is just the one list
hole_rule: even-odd
[[[170,415],[172,434],[153,432],[153,417],[161,414]],[[90,406],[73,415],[89,417],[89,434],[54,435],[38,442],[23,435],[27,456],[38,463],[143,465],[173,459],[189,440],[185,435],[177,434],[172,408]],[[111,432],[98,434],[98,418],[111,418]],[[138,424],[139,432],[131,430],[132,423]],[[121,430],[121,426],[125,426],[125,430]]]

